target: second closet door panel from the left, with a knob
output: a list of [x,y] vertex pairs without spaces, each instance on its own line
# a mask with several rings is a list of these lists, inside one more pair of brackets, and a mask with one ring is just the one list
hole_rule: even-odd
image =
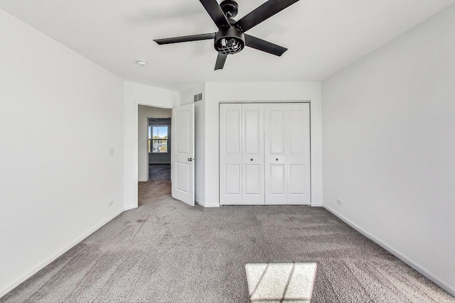
[[264,204],[264,104],[242,104],[242,204]]

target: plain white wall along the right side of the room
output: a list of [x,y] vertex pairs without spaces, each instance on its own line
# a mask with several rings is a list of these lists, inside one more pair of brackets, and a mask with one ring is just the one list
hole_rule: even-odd
[[323,202],[455,295],[454,50],[452,5],[323,82]]

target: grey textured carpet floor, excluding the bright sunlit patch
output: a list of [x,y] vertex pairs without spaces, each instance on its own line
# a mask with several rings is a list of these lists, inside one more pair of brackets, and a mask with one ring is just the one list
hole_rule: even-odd
[[140,184],[126,211],[0,302],[249,302],[247,263],[316,263],[311,302],[455,302],[325,209],[172,199]]

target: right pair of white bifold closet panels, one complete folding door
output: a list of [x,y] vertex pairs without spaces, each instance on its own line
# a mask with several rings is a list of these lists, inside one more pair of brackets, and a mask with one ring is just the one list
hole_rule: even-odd
[[309,104],[264,105],[265,204],[310,204]]

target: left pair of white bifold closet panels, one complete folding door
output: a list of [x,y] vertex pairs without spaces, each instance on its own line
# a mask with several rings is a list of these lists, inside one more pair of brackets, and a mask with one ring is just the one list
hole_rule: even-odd
[[220,204],[264,204],[264,104],[220,104]]

